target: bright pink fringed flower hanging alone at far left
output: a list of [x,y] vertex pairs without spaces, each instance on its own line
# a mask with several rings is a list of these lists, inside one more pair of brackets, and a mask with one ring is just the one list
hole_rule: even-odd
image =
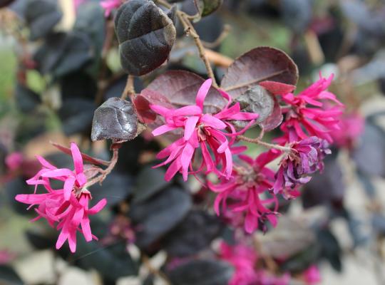
[[[33,221],[44,218],[51,227],[57,224],[56,229],[61,232],[56,242],[56,249],[60,249],[68,240],[71,252],[75,252],[77,231],[83,233],[87,242],[97,239],[91,233],[88,216],[100,212],[107,201],[102,199],[91,209],[88,208],[91,193],[83,187],[87,181],[86,175],[83,173],[83,159],[77,145],[73,142],[71,142],[71,152],[75,170],[58,169],[44,160],[43,157],[37,157],[43,167],[34,177],[27,180],[27,183],[36,187],[43,185],[47,192],[44,194],[16,195],[16,200],[29,204],[29,208],[38,206],[35,208],[38,217]],[[50,179],[63,181],[63,189],[53,190]]]

